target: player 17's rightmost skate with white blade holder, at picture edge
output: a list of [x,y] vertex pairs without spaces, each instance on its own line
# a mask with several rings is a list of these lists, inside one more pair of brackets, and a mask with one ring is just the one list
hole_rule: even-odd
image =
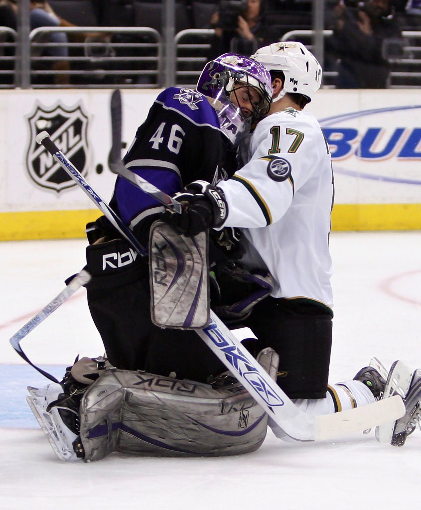
[[405,404],[405,415],[392,423],[376,427],[380,443],[403,446],[421,419],[421,369],[411,371],[402,361],[395,361],[389,371],[382,398],[400,395]]

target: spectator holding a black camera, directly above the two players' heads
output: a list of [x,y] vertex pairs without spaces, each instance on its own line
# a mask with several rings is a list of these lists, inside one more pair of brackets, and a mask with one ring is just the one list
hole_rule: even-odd
[[210,20],[215,35],[209,60],[227,52],[250,57],[257,48],[271,42],[266,40],[264,7],[264,0],[221,0]]

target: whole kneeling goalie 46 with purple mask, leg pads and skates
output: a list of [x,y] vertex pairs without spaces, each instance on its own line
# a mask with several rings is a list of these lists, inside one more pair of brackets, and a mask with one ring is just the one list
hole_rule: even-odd
[[[239,139],[269,110],[271,80],[261,64],[225,54],[209,62],[204,75],[207,83],[198,90],[171,87],[158,95],[124,158],[127,168],[168,194],[193,179],[216,184],[232,175]],[[159,202],[118,177],[110,205],[147,246],[163,211]],[[66,460],[77,451],[92,460],[115,449],[228,454],[258,448],[267,417],[256,402],[235,380],[221,384],[224,365],[194,331],[152,323],[147,258],[119,239],[105,217],[87,233],[88,305],[108,360],[84,358],[68,368],[61,385],[30,390],[30,406],[56,453]],[[225,264],[217,238],[209,259]],[[270,350],[261,356],[269,373],[273,358]],[[110,366],[112,373],[104,372]],[[88,392],[96,379],[101,391],[93,385]],[[207,385],[214,379],[220,388]]]

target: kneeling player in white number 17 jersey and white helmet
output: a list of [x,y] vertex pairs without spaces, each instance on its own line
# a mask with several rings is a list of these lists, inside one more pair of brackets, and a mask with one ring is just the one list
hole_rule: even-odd
[[[249,163],[217,186],[191,183],[175,195],[182,213],[165,212],[162,218],[186,235],[209,226],[240,227],[241,264],[269,271],[275,280],[270,297],[245,323],[259,347],[279,354],[278,385],[308,413],[351,409],[380,398],[386,381],[375,368],[365,367],[354,380],[328,385],[333,171],[320,125],[303,111],[320,87],[321,68],[299,42],[262,47],[252,58],[270,71],[274,98],[251,137]],[[418,379],[407,406],[419,400]],[[406,430],[408,417],[401,419],[399,430]]]

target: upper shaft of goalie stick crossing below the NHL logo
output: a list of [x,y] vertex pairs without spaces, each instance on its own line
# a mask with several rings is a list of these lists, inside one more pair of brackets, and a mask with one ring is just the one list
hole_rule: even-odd
[[141,244],[139,244],[132,231],[126,227],[126,225],[108,206],[107,202],[105,202],[100,195],[98,195],[93,188],[89,186],[85,177],[64,156],[63,152],[49,137],[48,133],[46,131],[42,131],[35,137],[35,140],[45,147],[49,154],[51,154],[57,163],[59,163],[59,165],[70,175],[71,179],[83,189],[84,193],[92,200],[95,206],[103,212],[104,216],[106,216],[117,231],[132,244],[136,251],[142,256],[146,255],[147,251]]

